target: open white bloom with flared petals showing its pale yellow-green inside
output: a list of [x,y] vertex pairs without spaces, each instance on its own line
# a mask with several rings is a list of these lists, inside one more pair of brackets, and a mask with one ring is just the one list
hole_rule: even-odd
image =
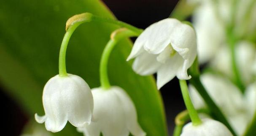
[[157,87],[177,76],[187,80],[187,69],[197,55],[194,29],[174,18],[156,22],[136,39],[127,60],[136,58],[132,68],[140,75],[157,72]]

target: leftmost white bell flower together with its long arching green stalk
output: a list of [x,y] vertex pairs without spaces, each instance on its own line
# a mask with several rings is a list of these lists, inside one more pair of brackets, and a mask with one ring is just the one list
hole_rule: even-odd
[[67,20],[66,34],[59,51],[59,75],[51,78],[43,90],[43,107],[46,115],[40,117],[35,114],[35,120],[38,123],[45,122],[48,131],[61,131],[67,120],[75,127],[83,127],[91,123],[92,92],[81,77],[68,74],[66,71],[66,51],[69,39],[80,24],[90,21],[125,26],[131,29],[128,35],[137,35],[142,31],[124,22],[94,16],[91,13],[75,15]]

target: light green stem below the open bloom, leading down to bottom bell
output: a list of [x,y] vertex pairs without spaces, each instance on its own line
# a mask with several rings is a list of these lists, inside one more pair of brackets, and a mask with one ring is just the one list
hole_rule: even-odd
[[181,86],[181,93],[186,105],[187,110],[189,111],[189,116],[194,126],[200,125],[202,121],[200,120],[197,110],[194,108],[194,105],[191,102],[189,97],[189,89],[186,83],[186,80],[179,80]]

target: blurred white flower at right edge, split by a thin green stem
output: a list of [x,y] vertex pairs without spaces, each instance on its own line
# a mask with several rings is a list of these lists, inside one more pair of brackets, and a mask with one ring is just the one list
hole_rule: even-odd
[[[253,81],[256,74],[256,48],[251,42],[240,41],[235,48],[236,60],[240,76],[243,84],[248,85]],[[231,52],[228,46],[223,46],[218,49],[216,56],[210,62],[210,66],[215,70],[223,73],[225,76],[232,78],[232,63]]]

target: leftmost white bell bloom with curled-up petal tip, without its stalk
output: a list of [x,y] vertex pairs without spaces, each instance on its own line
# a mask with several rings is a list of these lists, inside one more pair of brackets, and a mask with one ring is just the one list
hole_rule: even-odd
[[88,125],[93,111],[91,89],[79,76],[54,76],[44,86],[43,107],[45,115],[35,114],[35,120],[45,122],[48,131],[61,131],[67,120],[75,127]]

